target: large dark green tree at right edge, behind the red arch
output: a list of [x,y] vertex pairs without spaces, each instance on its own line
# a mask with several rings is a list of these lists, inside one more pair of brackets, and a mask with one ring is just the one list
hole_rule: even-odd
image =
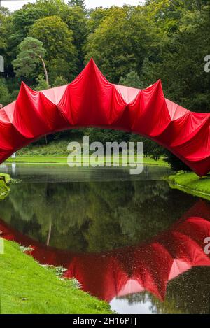
[[[152,13],[155,12],[157,3],[159,13],[161,8],[166,13],[164,4],[172,3],[169,0],[149,2]],[[176,33],[171,34],[164,27],[166,22],[169,24],[172,20],[169,13],[176,13],[178,10],[176,6],[165,14],[162,24],[157,22],[156,16],[151,18],[159,24],[159,33],[164,37],[156,47],[156,55],[150,55],[144,60],[141,80],[145,85],[161,78],[166,97],[190,110],[209,112],[210,75],[204,71],[204,57],[209,53],[210,6],[202,6],[202,10],[193,6],[192,10],[188,10],[189,1],[173,2],[186,3],[181,17],[176,20]],[[192,2],[198,5],[200,1]]]

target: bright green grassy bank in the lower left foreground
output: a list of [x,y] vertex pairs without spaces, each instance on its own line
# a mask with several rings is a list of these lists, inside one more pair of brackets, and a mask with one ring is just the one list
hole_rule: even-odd
[[60,280],[5,241],[0,255],[1,313],[111,313],[109,304],[79,290],[73,280]]

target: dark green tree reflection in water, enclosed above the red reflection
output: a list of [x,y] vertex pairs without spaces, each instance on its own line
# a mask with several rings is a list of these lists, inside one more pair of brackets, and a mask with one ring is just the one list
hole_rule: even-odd
[[111,250],[167,229],[193,197],[164,181],[22,183],[1,203],[3,220],[41,242],[75,251]]

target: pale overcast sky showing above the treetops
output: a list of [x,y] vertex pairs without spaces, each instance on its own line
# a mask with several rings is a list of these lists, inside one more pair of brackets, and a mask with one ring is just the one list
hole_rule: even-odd
[[[0,0],[1,6],[7,7],[10,10],[17,10],[27,2],[35,2],[35,0]],[[68,2],[68,0],[65,0]],[[87,8],[123,6],[123,4],[138,5],[144,1],[139,0],[85,0]]]

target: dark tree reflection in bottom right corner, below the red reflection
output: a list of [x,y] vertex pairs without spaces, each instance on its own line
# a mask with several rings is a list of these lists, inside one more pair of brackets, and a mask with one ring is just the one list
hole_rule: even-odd
[[129,294],[128,304],[151,302],[152,313],[210,313],[210,267],[195,267],[181,276],[170,280],[165,301],[162,302],[149,292]]

